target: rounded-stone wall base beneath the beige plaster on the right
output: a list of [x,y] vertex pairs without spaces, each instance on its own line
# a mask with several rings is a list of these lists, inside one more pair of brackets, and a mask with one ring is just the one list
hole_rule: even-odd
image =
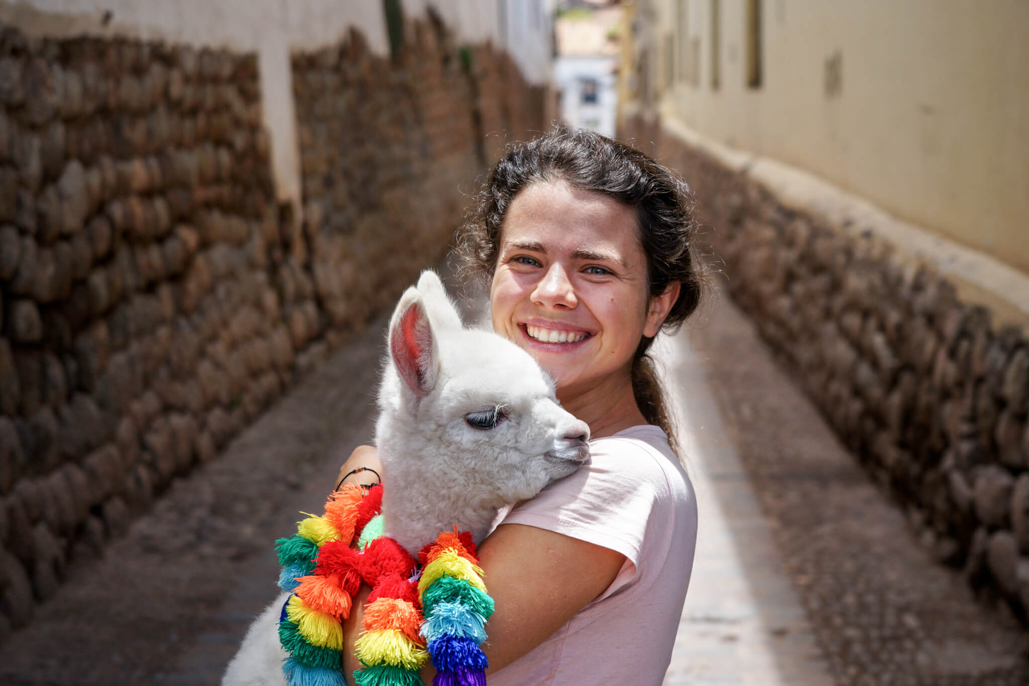
[[696,193],[733,299],[919,539],[1029,617],[1029,338],[870,231],[786,209],[744,169],[630,120]]

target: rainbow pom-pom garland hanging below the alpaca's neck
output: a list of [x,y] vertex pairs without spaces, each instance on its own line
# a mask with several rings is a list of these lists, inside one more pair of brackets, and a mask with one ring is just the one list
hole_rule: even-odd
[[[325,513],[309,515],[296,535],[279,539],[279,587],[290,592],[279,640],[290,686],[345,686],[342,621],[362,581],[371,586],[355,646],[364,665],[358,686],[418,686],[427,659],[433,686],[485,686],[486,592],[468,532],[442,532],[416,561],[383,536],[382,486],[365,496],[347,485],[329,497]],[[355,542],[357,547],[351,547]]]

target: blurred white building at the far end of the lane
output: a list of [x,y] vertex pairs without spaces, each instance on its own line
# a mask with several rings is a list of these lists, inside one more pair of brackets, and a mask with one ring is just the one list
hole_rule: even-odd
[[554,82],[561,118],[614,136],[617,111],[619,7],[576,7],[555,23]]

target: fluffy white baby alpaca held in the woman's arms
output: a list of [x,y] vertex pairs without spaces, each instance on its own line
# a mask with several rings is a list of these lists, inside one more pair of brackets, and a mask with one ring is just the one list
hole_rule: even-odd
[[[480,543],[503,505],[589,458],[590,429],[561,408],[551,378],[514,344],[464,328],[432,272],[400,297],[389,352],[376,424],[383,518],[413,555],[455,526]],[[222,686],[286,683],[278,621],[287,597],[250,626]]]

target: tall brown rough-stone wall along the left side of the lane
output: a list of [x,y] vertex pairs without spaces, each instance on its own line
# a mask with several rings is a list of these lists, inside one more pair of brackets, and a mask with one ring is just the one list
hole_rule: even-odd
[[407,32],[392,62],[357,33],[294,56],[297,221],[253,55],[0,27],[0,639],[443,254],[480,94],[538,94]]

